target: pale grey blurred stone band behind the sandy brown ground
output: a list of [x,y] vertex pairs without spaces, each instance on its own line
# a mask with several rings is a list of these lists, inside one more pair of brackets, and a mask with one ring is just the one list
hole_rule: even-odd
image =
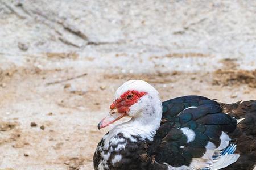
[[0,62],[51,67],[71,58],[69,65],[113,71],[212,71],[233,58],[251,70],[255,16],[256,2],[244,0],[1,0]]

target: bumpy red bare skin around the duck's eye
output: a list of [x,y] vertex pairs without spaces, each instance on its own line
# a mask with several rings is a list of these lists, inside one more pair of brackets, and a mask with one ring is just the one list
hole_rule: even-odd
[[146,94],[146,92],[139,92],[136,90],[126,91],[119,97],[119,99],[115,100],[110,105],[110,109],[117,108],[119,113],[128,113],[129,107],[134,103],[137,103],[139,98]]

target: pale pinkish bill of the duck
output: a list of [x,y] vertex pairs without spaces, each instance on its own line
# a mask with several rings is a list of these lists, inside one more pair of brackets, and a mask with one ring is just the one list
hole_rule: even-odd
[[105,128],[106,126],[113,124],[115,121],[118,121],[125,116],[127,116],[127,113],[119,113],[117,112],[117,109],[112,109],[109,112],[108,116],[102,119],[101,122],[98,124],[98,129],[100,130],[102,128]]

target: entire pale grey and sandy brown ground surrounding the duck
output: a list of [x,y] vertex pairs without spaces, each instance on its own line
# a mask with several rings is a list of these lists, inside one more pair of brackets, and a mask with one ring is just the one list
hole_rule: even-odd
[[253,1],[0,0],[0,169],[93,169],[115,89],[256,99]]

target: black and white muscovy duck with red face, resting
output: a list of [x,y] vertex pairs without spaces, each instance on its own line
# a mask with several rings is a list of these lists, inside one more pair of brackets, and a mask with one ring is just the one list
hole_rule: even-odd
[[110,109],[98,129],[122,117],[131,119],[114,126],[98,143],[94,169],[213,170],[255,165],[256,100],[224,104],[183,96],[162,103],[150,84],[129,80],[115,91]]

